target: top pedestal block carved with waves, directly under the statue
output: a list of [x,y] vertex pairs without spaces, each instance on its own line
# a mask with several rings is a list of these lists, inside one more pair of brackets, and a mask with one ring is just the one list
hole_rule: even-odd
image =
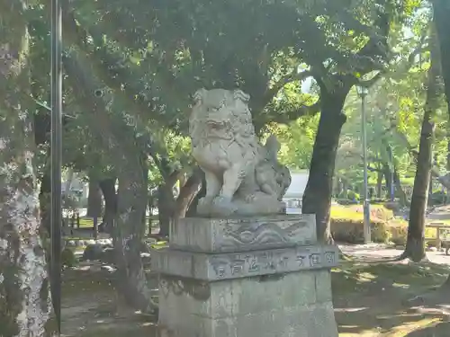
[[234,219],[186,217],[170,228],[171,247],[192,252],[243,252],[316,242],[316,217],[309,214]]

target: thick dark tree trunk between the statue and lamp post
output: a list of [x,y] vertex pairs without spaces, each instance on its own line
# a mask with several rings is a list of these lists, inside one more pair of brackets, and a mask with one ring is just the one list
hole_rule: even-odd
[[312,150],[310,176],[302,200],[302,213],[315,214],[317,237],[322,243],[332,242],[329,231],[329,210],[336,154],[346,115],[342,111],[348,93],[340,89],[329,93],[320,88],[320,122]]

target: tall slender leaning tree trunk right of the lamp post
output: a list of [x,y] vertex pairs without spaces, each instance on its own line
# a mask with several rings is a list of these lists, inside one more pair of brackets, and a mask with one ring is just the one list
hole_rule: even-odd
[[[435,39],[436,40],[436,39]],[[410,224],[404,258],[420,262],[426,258],[425,253],[425,217],[428,204],[428,195],[431,182],[431,169],[433,167],[433,138],[435,123],[433,121],[437,110],[437,80],[439,76],[436,41],[431,50],[431,67],[428,70],[427,101],[420,131],[419,154],[417,160],[416,176],[410,206]]]

